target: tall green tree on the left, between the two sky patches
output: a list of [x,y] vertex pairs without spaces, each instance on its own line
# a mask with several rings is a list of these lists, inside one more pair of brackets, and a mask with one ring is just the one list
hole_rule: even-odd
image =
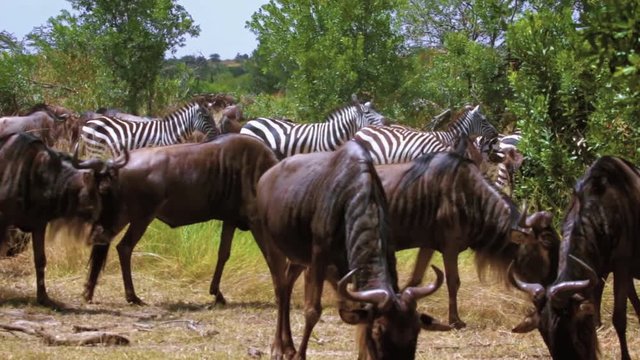
[[[126,106],[150,109],[164,55],[200,28],[176,0],[69,0],[78,26],[93,34],[96,54],[125,84]],[[51,31],[62,31],[52,28]]]

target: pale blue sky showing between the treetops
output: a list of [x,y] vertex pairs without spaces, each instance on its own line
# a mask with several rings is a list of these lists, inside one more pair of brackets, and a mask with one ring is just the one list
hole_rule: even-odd
[[[187,38],[185,46],[175,55],[219,54],[221,59],[233,59],[237,54],[251,55],[256,48],[255,35],[245,28],[251,15],[268,0],[178,0],[200,25],[200,36]],[[0,0],[0,30],[22,40],[35,27],[46,24],[60,10],[71,10],[66,0]]]

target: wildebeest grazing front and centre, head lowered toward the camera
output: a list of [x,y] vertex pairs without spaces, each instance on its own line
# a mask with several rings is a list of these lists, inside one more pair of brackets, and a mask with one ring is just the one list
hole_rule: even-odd
[[[260,179],[257,206],[258,225],[252,231],[267,259],[278,304],[273,357],[305,358],[331,265],[343,277],[338,286],[342,299],[368,304],[340,310],[343,321],[360,324],[360,356],[414,358],[420,328],[434,325],[431,317],[417,312],[416,301],[440,286],[442,273],[434,285],[398,293],[386,199],[362,145],[349,141],[335,152],[284,159]],[[290,299],[305,267],[305,328],[296,353]],[[354,275],[355,290],[347,290]]]

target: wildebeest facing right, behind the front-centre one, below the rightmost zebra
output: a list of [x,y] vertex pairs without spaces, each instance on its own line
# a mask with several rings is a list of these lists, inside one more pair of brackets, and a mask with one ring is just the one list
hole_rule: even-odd
[[389,200],[396,250],[421,248],[409,285],[420,283],[434,250],[441,252],[449,323],[457,328],[465,326],[457,306],[460,252],[467,248],[475,252],[480,275],[494,270],[506,279],[508,265],[517,259],[518,274],[544,281],[555,266],[550,254],[559,246],[551,215],[520,214],[476,164],[459,155],[468,144],[461,141],[456,152],[425,154],[411,163],[376,166]]

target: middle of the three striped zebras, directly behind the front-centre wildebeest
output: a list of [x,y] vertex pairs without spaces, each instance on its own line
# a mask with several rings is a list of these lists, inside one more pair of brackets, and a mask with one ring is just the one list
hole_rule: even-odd
[[264,141],[279,159],[317,151],[333,151],[349,141],[355,133],[370,125],[383,125],[384,116],[370,102],[351,105],[332,112],[323,123],[296,124],[287,120],[257,118],[242,127],[241,134]]

